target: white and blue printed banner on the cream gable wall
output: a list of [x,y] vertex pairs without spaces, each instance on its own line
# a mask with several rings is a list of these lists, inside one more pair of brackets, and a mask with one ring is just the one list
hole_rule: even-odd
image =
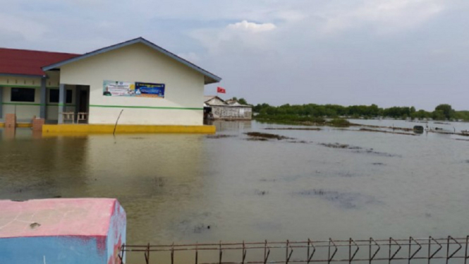
[[164,98],[164,84],[104,80],[102,94],[104,96]]

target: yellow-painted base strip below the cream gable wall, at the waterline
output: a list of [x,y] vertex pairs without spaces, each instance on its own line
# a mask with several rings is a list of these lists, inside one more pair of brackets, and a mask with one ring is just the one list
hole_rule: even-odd
[[[215,126],[145,126],[145,125],[118,125],[116,133],[215,133]],[[60,124],[42,126],[42,133],[113,133],[114,125],[93,124]]]

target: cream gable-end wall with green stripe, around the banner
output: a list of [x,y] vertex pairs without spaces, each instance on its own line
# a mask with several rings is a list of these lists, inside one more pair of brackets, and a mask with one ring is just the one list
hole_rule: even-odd
[[[165,98],[109,97],[103,81],[164,83]],[[204,76],[145,44],[61,67],[60,82],[90,85],[90,124],[202,125]]]

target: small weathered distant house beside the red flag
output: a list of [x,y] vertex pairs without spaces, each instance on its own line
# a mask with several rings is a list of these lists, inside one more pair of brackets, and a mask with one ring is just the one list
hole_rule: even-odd
[[204,115],[207,119],[251,120],[252,107],[236,100],[224,101],[218,96],[205,96]]

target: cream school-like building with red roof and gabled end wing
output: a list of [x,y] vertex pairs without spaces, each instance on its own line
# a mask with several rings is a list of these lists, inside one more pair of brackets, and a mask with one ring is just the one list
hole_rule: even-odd
[[142,37],[86,54],[0,48],[0,122],[202,126],[204,86],[220,80]]

